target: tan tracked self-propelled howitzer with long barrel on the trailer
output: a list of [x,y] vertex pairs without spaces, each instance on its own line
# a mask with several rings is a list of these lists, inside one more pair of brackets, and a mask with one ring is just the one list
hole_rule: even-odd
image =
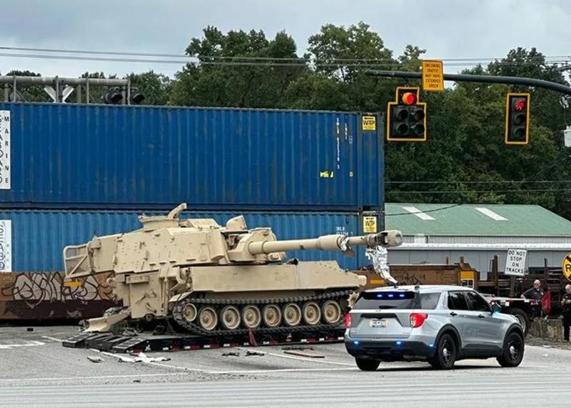
[[139,217],[141,229],[94,237],[64,249],[66,281],[113,272],[108,283],[123,308],[89,321],[107,332],[124,319],[165,318],[195,334],[241,334],[336,325],[366,278],[337,262],[285,262],[286,251],[396,246],[400,232],[362,237],[325,235],[278,241],[270,228],[248,229],[243,217],[221,227],[213,219]]

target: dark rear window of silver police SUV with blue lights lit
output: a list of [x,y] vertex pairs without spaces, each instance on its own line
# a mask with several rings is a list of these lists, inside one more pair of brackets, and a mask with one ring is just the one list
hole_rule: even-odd
[[440,292],[363,292],[355,309],[436,309],[438,299]]

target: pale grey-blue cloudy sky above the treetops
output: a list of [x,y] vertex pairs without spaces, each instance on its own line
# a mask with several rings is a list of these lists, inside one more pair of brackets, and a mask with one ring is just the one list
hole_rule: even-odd
[[[407,44],[427,58],[505,56],[517,46],[546,56],[570,55],[570,0],[3,0],[0,46],[183,54],[208,25],[285,30],[300,53],[323,24],[370,24],[385,46],[401,54]],[[4,52],[4,51],[0,51]],[[16,59],[0,56],[0,72],[29,69],[46,76],[104,71],[123,76],[171,64]],[[446,66],[445,71],[458,71]]]

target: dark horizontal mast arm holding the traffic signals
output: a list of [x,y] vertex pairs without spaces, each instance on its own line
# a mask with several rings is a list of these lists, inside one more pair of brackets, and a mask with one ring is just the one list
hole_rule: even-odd
[[[369,69],[366,74],[371,76],[381,76],[385,78],[408,78],[422,79],[421,72],[408,71],[379,71]],[[560,92],[561,94],[571,96],[571,87],[557,84],[557,82],[544,81],[543,79],[526,78],[524,76],[494,76],[494,75],[473,75],[473,74],[444,74],[445,81],[455,82],[487,82],[489,84],[508,84],[508,85],[525,85],[537,86],[537,88],[550,89],[551,91]]]

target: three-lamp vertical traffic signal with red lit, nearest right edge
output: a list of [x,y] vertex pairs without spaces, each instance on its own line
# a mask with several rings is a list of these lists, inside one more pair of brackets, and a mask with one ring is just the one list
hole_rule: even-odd
[[505,144],[527,144],[530,136],[530,94],[507,94]]

